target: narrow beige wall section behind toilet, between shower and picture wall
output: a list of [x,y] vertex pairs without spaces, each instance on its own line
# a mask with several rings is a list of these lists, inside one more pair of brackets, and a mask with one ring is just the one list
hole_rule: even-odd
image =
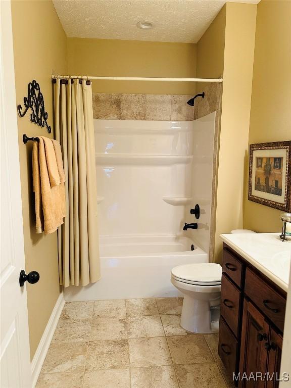
[[257,6],[226,4],[223,92],[216,201],[215,260],[221,233],[243,228]]

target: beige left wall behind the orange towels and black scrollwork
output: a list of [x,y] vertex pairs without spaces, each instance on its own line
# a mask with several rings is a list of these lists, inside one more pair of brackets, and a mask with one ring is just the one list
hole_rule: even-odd
[[[27,96],[29,81],[36,79],[44,96],[48,122],[53,127],[52,81],[54,69],[67,72],[66,36],[50,1],[12,1],[16,101],[22,104]],[[28,112],[29,113],[29,112]],[[27,284],[30,353],[33,357],[42,333],[60,294],[57,233],[35,233],[34,201],[32,192],[31,150],[22,134],[49,135],[45,128],[30,122],[29,114],[18,118],[21,191],[24,226],[26,272],[40,273],[37,284]]]

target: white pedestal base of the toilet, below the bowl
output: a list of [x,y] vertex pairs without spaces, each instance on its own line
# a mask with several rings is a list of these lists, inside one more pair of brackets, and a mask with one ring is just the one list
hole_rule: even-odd
[[191,298],[188,295],[184,295],[180,325],[192,333],[207,334],[218,331],[218,325],[211,325],[209,301]]

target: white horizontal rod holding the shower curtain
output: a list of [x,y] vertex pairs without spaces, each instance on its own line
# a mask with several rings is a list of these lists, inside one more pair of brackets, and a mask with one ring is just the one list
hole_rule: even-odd
[[161,77],[92,77],[88,75],[52,75],[52,78],[100,79],[111,81],[222,82],[223,78],[161,78]]

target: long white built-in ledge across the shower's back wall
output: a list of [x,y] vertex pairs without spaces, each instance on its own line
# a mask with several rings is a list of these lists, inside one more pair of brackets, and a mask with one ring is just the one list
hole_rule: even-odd
[[188,164],[192,161],[191,155],[95,154],[95,157],[97,165],[171,165]]

